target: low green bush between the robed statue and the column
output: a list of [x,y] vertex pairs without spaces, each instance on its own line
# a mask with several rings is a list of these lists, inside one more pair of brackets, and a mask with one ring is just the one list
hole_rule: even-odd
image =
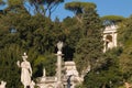
[[46,69],[46,76],[55,76],[56,69],[56,56],[55,54],[45,53],[40,55],[34,61],[34,75],[36,77],[43,76],[43,69]]

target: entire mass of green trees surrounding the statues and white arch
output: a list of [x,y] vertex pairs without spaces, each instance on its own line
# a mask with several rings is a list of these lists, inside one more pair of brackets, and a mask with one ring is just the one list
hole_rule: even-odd
[[[35,7],[35,15],[26,11],[21,0],[8,0],[6,13],[0,14],[0,80],[7,81],[8,88],[22,88],[21,70],[16,66],[16,61],[22,61],[23,52],[29,55],[33,80],[43,75],[43,68],[46,69],[47,76],[54,76],[56,56],[53,53],[56,53],[58,41],[64,42],[65,61],[72,61],[74,57],[80,74],[89,65],[91,66],[91,72],[77,88],[118,88],[122,86],[123,79],[131,80],[132,16],[101,18],[102,21],[122,22],[118,30],[121,48],[103,54],[102,22],[97,14],[95,3],[66,3],[65,8],[74,11],[76,16],[66,18],[63,22],[58,19],[52,22],[51,19],[42,15],[43,10],[48,9],[52,12],[53,8],[64,0],[40,0],[42,2],[38,2],[37,7],[36,1],[30,1]],[[77,16],[80,21],[76,19]]]

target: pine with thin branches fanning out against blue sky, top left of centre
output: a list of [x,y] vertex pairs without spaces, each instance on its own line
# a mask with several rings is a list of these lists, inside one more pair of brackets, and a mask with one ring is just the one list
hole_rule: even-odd
[[36,13],[42,13],[44,16],[47,14],[48,18],[51,18],[54,10],[57,8],[57,6],[64,0],[29,0],[31,6],[35,7]]

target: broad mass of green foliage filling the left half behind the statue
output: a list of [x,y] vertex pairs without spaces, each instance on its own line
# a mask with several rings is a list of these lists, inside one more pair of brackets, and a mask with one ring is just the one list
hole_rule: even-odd
[[23,52],[29,55],[33,80],[42,76],[43,67],[47,76],[53,76],[56,67],[53,53],[64,32],[61,23],[54,23],[42,14],[31,15],[24,8],[16,6],[19,2],[13,4],[13,10],[8,7],[7,13],[0,16],[0,80],[7,81],[8,88],[20,88],[21,70],[15,63],[21,61]]

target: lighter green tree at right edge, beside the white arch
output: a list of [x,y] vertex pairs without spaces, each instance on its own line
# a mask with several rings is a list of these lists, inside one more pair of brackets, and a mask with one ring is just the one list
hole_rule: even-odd
[[119,29],[119,45],[123,48],[123,53],[120,55],[120,68],[125,79],[131,80],[132,75],[132,16],[124,20],[122,26]]

